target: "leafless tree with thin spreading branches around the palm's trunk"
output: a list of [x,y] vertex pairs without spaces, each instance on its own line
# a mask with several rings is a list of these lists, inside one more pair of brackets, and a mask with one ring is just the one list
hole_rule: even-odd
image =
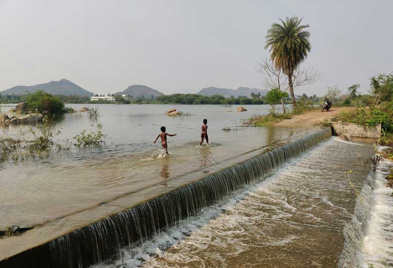
[[[257,63],[258,67],[256,70],[262,74],[263,87],[267,89],[279,88],[283,92],[289,91],[290,83],[288,83],[288,76],[281,69],[277,69],[272,61],[265,58]],[[295,90],[297,87],[312,84],[320,77],[321,74],[313,67],[307,69],[296,68],[292,75],[293,88]],[[285,113],[283,98],[281,99],[281,103],[283,105],[283,112]]]

